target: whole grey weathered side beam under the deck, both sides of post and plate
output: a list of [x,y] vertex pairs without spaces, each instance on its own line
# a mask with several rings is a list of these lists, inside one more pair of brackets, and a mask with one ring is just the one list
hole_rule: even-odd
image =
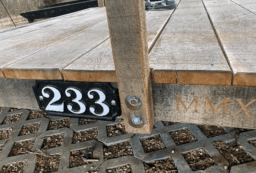
[[[0,106],[39,109],[33,85],[35,80],[0,78]],[[155,121],[256,129],[254,86],[152,84],[152,97]]]

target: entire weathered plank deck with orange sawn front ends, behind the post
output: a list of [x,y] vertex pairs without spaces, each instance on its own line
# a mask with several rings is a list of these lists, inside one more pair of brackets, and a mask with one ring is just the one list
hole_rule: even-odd
[[[256,4],[176,2],[175,10],[146,13],[152,83],[256,86]],[[0,31],[0,79],[7,78],[117,82],[105,7]]]

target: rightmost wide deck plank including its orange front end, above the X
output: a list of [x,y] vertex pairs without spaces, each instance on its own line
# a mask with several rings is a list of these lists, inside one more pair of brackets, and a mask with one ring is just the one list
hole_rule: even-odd
[[256,15],[229,0],[203,0],[234,72],[233,85],[256,86]]

